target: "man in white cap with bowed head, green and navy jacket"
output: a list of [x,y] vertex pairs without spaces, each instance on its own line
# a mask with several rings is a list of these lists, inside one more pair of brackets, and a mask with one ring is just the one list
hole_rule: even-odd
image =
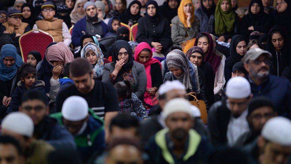
[[105,148],[103,121],[88,107],[87,101],[80,96],[68,97],[60,113],[52,114],[74,136],[83,162],[96,151]]

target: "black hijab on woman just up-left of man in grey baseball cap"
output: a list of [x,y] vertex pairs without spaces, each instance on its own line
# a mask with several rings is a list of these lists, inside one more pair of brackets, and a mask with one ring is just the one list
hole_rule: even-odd
[[239,55],[236,52],[236,46],[239,42],[244,41],[247,44],[247,39],[242,35],[235,35],[231,38],[230,42],[230,60],[227,63],[227,66],[232,69],[233,65],[237,62],[240,62],[244,56]]

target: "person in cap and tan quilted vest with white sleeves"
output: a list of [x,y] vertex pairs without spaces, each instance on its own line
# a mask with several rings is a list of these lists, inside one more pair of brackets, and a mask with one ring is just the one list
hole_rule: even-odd
[[55,18],[55,6],[52,2],[45,2],[41,5],[43,20],[36,21],[32,29],[43,30],[54,38],[55,42],[64,42],[69,47],[71,34],[63,19]]

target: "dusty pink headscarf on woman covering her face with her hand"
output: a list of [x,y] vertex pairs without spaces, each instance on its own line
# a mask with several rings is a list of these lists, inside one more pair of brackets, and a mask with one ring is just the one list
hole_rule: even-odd
[[74,60],[72,51],[63,43],[58,42],[47,48],[45,56],[50,65],[54,66],[51,61],[62,61],[64,65]]

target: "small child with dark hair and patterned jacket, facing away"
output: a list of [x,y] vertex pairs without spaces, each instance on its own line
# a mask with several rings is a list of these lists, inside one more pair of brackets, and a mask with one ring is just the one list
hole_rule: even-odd
[[148,117],[143,103],[132,93],[129,81],[117,82],[114,87],[118,94],[119,114],[127,113],[143,119]]

